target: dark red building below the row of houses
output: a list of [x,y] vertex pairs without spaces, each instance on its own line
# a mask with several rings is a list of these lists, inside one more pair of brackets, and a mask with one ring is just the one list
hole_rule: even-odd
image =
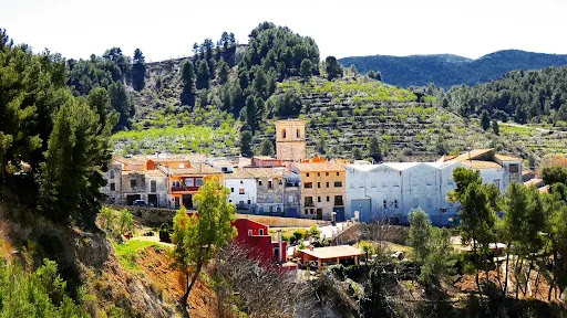
[[233,225],[238,231],[235,242],[246,245],[250,256],[267,263],[286,262],[287,242],[272,241],[268,225],[248,219],[237,219]]

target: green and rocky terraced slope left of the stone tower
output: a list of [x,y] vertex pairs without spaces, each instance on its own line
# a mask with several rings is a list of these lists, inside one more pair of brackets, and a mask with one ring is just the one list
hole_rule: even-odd
[[184,60],[147,64],[144,89],[131,91],[135,107],[132,130],[112,137],[118,153],[238,155],[239,124],[231,114],[220,112],[213,103],[182,105],[179,70]]

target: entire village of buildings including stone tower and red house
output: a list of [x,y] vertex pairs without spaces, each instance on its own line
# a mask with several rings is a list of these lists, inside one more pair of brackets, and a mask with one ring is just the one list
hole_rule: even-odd
[[[446,198],[456,187],[457,167],[480,171],[483,182],[502,192],[513,182],[546,190],[540,179],[523,170],[523,159],[494,149],[471,149],[434,162],[327,160],[307,158],[303,120],[278,120],[276,131],[276,158],[115,157],[103,193],[109,204],[130,206],[138,215],[144,211],[146,221],[171,222],[181,206],[189,213],[196,210],[194,195],[213,178],[229,190],[227,203],[238,213],[235,240],[251,256],[286,269],[320,271],[369,262],[359,224],[406,225],[410,212],[421,209],[435,226],[457,225],[458,202]],[[155,211],[166,211],[165,219]],[[403,251],[391,252],[392,257],[404,257]]]

